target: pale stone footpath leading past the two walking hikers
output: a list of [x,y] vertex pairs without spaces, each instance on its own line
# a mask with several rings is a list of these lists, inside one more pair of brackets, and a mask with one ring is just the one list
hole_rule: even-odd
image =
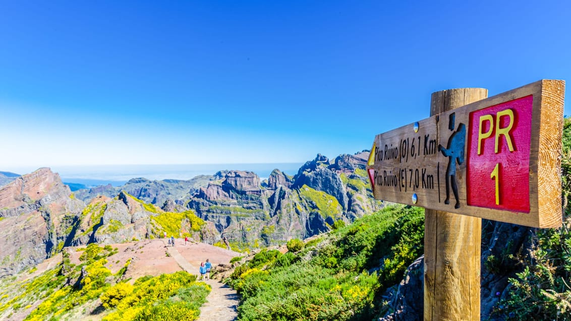
[[[167,246],[166,239],[163,240]],[[167,246],[167,252],[185,271],[196,274],[198,269],[192,266],[174,246]],[[238,319],[238,294],[231,287],[217,280],[205,280],[212,287],[206,297],[207,302],[200,307],[198,321],[234,321]]]

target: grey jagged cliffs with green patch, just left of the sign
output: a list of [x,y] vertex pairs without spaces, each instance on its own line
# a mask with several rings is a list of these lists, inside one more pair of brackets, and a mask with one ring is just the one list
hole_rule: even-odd
[[219,172],[187,206],[239,247],[311,237],[337,220],[353,221],[381,208],[372,198],[367,157],[368,152],[342,155],[331,163],[318,154],[295,176],[276,169],[263,182],[252,172]]

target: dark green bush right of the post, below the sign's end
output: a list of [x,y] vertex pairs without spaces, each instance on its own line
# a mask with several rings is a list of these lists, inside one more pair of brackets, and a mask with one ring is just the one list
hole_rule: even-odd
[[[501,319],[571,320],[571,118],[564,120],[562,143],[563,225],[538,229],[531,255],[516,258],[525,267],[509,279],[505,298],[494,307],[492,314]],[[488,261],[493,267],[496,259]]]

